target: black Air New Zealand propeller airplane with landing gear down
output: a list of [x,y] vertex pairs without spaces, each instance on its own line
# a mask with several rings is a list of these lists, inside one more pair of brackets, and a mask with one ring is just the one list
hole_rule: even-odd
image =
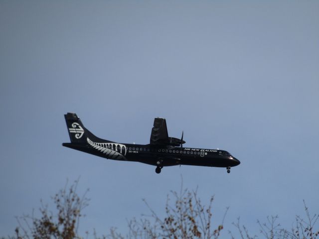
[[227,173],[240,161],[229,152],[219,149],[183,147],[181,138],[168,137],[166,120],[155,118],[149,144],[116,143],[98,138],[86,129],[75,113],[64,115],[71,143],[63,146],[90,153],[107,159],[141,162],[156,166],[160,173],[166,166],[195,165],[224,167]]

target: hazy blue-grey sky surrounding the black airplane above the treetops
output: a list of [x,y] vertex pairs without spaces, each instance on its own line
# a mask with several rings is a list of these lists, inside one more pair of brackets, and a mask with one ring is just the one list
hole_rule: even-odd
[[[0,1],[0,236],[14,216],[81,176],[81,232],[126,230],[184,186],[215,195],[224,237],[237,217],[291,226],[319,213],[319,1]],[[223,168],[155,167],[62,147],[63,114],[99,137],[149,143],[155,117]],[[223,238],[224,238],[223,237]]]

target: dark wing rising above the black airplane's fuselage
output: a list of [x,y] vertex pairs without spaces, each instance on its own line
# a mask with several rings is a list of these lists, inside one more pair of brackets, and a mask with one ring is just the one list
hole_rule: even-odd
[[154,127],[152,128],[150,143],[152,145],[160,145],[168,142],[168,133],[166,119],[155,118]]

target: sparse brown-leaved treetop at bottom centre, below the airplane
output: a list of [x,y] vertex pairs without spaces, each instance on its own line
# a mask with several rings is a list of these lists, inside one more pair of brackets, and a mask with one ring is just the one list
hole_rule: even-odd
[[[171,196],[173,203],[170,203]],[[165,217],[163,219],[144,200],[151,215],[142,215],[140,220],[133,219],[129,221],[129,235],[126,238],[217,239],[223,230],[225,216],[221,224],[215,230],[212,229],[213,200],[214,198],[211,197],[208,207],[205,207],[197,196],[197,190],[183,190],[181,187],[179,193],[171,191],[170,195],[167,196]],[[115,229],[111,229],[111,235],[108,238],[123,239],[125,237],[116,233]]]

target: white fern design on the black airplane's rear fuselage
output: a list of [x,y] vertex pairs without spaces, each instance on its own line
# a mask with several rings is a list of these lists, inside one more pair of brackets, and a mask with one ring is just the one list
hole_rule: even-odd
[[[121,143],[97,143],[86,138],[88,144],[105,154],[106,158],[126,160],[126,146]],[[122,154],[124,152],[124,155]]]

